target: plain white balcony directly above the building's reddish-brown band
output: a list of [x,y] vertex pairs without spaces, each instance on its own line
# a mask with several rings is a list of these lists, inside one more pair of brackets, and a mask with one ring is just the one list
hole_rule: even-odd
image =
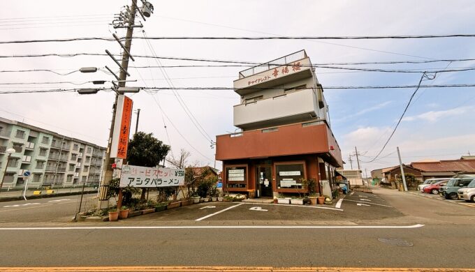
[[316,89],[310,88],[235,105],[234,126],[252,129],[310,121],[319,115],[319,105],[316,101]]

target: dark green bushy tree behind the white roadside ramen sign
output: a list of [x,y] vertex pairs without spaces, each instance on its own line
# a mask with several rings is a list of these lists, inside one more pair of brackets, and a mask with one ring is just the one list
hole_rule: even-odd
[[[138,132],[129,140],[127,162],[130,165],[156,167],[160,165],[170,151],[170,146],[156,139],[152,133]],[[142,189],[140,200],[145,199],[145,188]]]

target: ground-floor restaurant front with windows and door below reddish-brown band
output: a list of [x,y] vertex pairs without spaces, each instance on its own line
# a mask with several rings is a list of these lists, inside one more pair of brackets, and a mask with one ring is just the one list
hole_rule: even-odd
[[272,197],[279,194],[303,195],[301,179],[330,181],[334,188],[335,166],[325,162],[323,154],[279,156],[263,159],[225,160],[224,191],[249,197]]

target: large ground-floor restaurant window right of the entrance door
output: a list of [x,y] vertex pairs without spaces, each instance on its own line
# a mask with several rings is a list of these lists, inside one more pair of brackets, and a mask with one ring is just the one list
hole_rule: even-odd
[[277,189],[302,189],[305,179],[305,163],[276,164]]

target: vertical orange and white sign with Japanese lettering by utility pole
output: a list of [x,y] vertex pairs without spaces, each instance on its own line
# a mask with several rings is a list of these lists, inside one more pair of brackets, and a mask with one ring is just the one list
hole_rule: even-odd
[[112,149],[110,158],[126,158],[129,145],[129,132],[132,117],[132,100],[124,95],[117,98],[115,111],[114,134],[112,135]]

